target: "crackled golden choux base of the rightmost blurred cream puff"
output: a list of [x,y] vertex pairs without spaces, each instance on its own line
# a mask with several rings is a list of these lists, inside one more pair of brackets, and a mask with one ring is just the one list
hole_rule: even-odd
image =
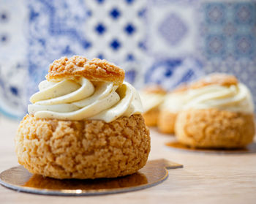
[[180,143],[197,148],[241,148],[255,135],[253,114],[227,110],[183,110],[176,119]]

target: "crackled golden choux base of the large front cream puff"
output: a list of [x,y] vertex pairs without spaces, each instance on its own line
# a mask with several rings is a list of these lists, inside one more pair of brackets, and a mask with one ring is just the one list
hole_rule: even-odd
[[110,123],[27,115],[15,137],[20,165],[52,178],[113,178],[146,165],[149,130],[140,114]]

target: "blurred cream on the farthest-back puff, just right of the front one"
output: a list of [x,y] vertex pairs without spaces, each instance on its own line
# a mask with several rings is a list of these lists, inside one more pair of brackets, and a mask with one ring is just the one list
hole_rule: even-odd
[[165,95],[140,92],[140,99],[143,105],[143,112],[146,113],[148,110],[159,107],[159,105],[164,101]]

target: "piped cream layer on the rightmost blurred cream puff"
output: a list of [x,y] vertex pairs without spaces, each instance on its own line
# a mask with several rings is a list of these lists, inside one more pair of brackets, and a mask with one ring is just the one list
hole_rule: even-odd
[[187,91],[184,110],[217,108],[241,113],[253,113],[249,89],[242,83],[233,86],[211,85]]

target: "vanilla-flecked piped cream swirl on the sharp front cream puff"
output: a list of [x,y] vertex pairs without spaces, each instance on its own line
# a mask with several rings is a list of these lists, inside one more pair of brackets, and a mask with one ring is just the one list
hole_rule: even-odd
[[29,114],[36,118],[59,120],[102,120],[142,113],[140,96],[127,82],[91,82],[86,78],[39,83],[39,92],[31,96]]

